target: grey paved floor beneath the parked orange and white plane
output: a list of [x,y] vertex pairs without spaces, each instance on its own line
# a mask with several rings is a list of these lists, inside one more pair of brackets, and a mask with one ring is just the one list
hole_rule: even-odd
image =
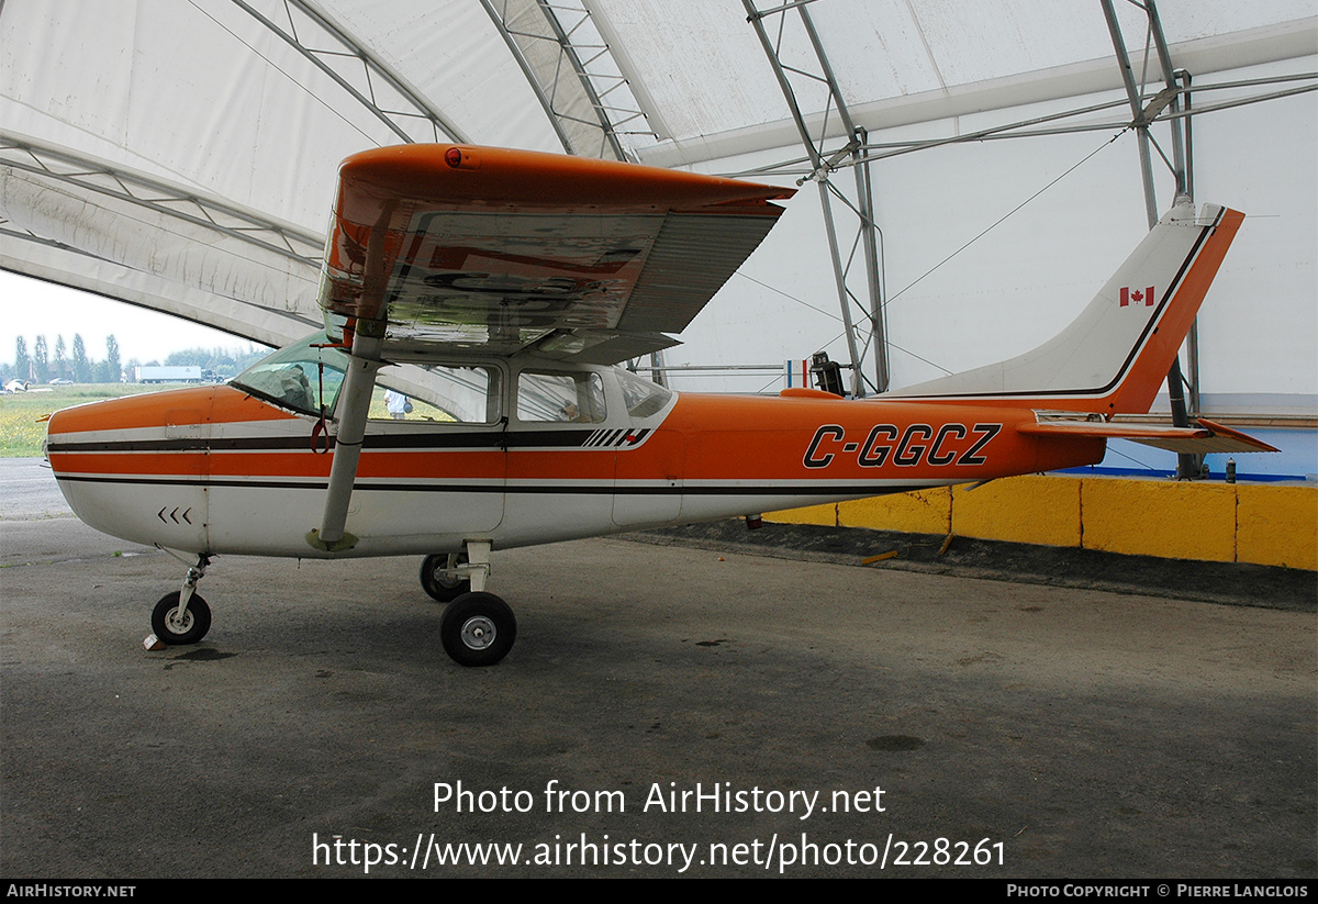
[[[496,553],[496,668],[414,559],[217,559],[146,652],[183,565],[41,480],[0,468],[7,876],[1318,874],[1313,613],[600,539]],[[655,803],[697,785],[734,812]]]

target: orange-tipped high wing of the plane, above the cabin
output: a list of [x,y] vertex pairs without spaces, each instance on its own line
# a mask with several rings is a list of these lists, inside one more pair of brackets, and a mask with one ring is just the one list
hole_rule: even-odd
[[[789,188],[465,145],[349,157],[326,248],[331,331],[391,361],[481,351],[613,364],[677,344]],[[349,327],[352,331],[355,327]]]

